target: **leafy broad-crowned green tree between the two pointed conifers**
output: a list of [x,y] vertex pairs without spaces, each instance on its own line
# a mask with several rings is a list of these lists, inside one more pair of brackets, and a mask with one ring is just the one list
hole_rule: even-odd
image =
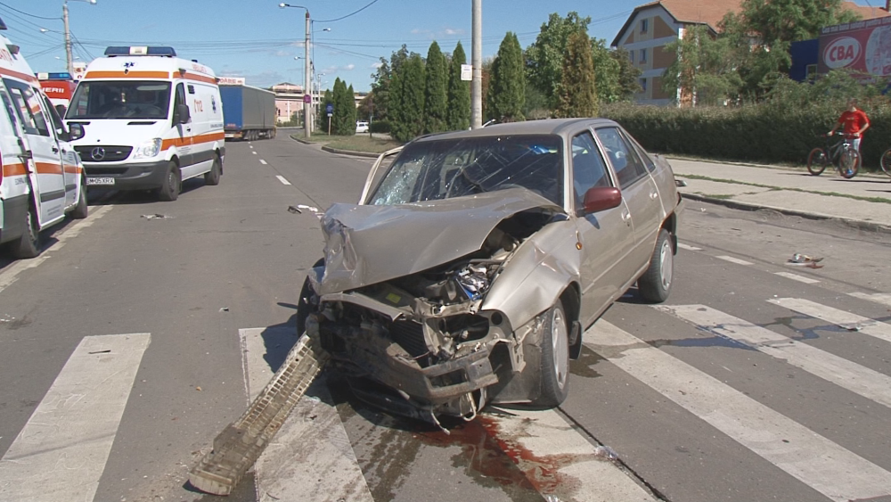
[[548,22],[542,24],[535,42],[526,49],[529,84],[548,96],[552,109],[558,102],[557,90],[563,79],[563,56],[569,36],[576,31],[587,32],[590,23],[590,17],[580,17],[577,12],[569,12],[565,18],[554,12],[548,16]]

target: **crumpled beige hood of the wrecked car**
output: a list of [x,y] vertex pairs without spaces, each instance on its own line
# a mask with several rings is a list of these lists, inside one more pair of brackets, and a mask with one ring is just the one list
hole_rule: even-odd
[[325,270],[316,292],[344,292],[409,276],[478,251],[505,218],[563,212],[541,195],[510,188],[398,206],[334,204],[325,211]]

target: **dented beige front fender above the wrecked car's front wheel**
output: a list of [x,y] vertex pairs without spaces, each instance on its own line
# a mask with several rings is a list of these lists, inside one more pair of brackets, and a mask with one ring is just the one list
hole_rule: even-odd
[[519,245],[492,283],[481,310],[497,310],[513,328],[550,309],[579,281],[582,251],[571,220],[552,222]]

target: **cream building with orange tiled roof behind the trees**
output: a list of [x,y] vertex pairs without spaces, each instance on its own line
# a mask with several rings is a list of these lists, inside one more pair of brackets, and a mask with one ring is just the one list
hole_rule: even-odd
[[[717,34],[718,25],[728,12],[740,12],[743,0],[658,0],[642,4],[625,21],[613,39],[613,47],[625,49],[634,66],[641,70],[642,92],[634,101],[645,104],[665,105],[683,103],[683,89],[671,91],[662,88],[662,74],[677,57],[665,50],[665,46],[677,38],[683,38],[692,25],[706,25]],[[891,15],[891,0],[885,7],[865,7],[844,2],[843,7],[856,12],[862,19]]]

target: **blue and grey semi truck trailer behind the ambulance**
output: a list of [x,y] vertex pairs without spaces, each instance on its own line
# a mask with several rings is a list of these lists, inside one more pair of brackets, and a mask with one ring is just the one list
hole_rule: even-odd
[[266,89],[220,81],[226,139],[275,137],[275,95]]

